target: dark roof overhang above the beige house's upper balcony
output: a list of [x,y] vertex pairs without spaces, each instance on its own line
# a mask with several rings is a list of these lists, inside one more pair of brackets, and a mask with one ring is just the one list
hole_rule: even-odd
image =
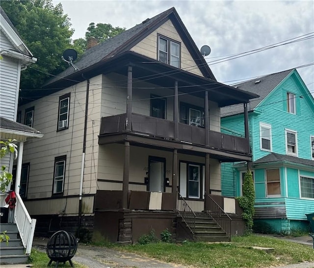
[[[133,79],[148,81],[168,88],[173,88],[174,81],[178,81],[180,92],[203,98],[205,91],[209,91],[209,100],[217,102],[220,107],[247,103],[249,99],[259,97],[256,94],[235,89],[215,80],[189,73],[133,51],[126,51],[118,56],[105,59],[91,67],[51,83],[45,87],[46,89],[51,89],[51,91],[45,90],[45,93],[47,95],[52,94],[101,73],[121,73],[126,75],[128,66],[133,66]],[[39,91],[33,95],[40,95]]]

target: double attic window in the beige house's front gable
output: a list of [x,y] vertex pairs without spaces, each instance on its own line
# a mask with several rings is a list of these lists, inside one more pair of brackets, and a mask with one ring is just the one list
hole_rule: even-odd
[[165,36],[157,36],[157,57],[158,60],[171,66],[180,68],[181,44]]

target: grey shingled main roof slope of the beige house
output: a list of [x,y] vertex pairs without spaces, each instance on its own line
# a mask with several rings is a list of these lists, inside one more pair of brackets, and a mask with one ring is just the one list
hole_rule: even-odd
[[[134,27],[132,27],[129,30],[126,30],[119,35],[116,35],[112,38],[107,39],[105,42],[94,46],[90,49],[87,49],[84,53],[84,55],[78,60],[78,62],[75,62],[75,65],[78,67],[79,70],[83,70],[87,67],[90,67],[98,62],[101,62],[104,60],[109,54],[110,56],[114,55],[114,51],[119,49],[121,46],[125,45],[128,43],[128,41],[131,41],[133,38],[136,37],[137,34],[139,34],[142,31],[148,30],[148,28],[157,22],[158,20],[168,16],[174,8],[170,8],[157,16],[147,19],[141,24],[137,24]],[[122,53],[123,51],[117,51],[117,54]],[[116,54],[116,55],[117,55]],[[56,82],[57,80],[60,79],[60,77],[66,77],[70,74],[76,73],[78,71],[75,71],[73,67],[69,67],[68,69],[64,70],[62,73],[58,74],[58,77],[54,77],[51,80],[47,82],[46,85],[49,85],[53,82]]]

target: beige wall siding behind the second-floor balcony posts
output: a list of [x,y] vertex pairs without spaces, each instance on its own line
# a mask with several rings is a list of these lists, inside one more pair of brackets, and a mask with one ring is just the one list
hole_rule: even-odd
[[[159,87],[155,84],[133,80],[132,82],[132,111],[133,113],[150,116],[151,95],[165,97],[167,102],[166,119],[173,121],[174,91]],[[180,102],[190,103],[204,107],[204,99],[191,95],[181,95],[179,84]],[[127,76],[110,73],[103,77],[102,90],[102,117],[126,113]],[[99,102],[99,101],[98,101]],[[220,109],[218,104],[209,101],[209,129],[220,132]]]

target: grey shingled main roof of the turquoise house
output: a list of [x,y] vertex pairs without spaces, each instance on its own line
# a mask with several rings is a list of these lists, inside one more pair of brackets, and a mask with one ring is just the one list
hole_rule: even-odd
[[[281,81],[283,81],[294,69],[283,71],[280,73],[272,73],[262,77],[258,77],[243,83],[234,85],[238,89],[242,89],[251,93],[260,95],[258,98],[252,99],[248,103],[248,111],[253,111],[261,101],[268,96],[273,89],[275,89]],[[256,81],[261,80],[259,83]],[[235,104],[221,108],[221,117],[236,115],[243,113],[243,104]]]

